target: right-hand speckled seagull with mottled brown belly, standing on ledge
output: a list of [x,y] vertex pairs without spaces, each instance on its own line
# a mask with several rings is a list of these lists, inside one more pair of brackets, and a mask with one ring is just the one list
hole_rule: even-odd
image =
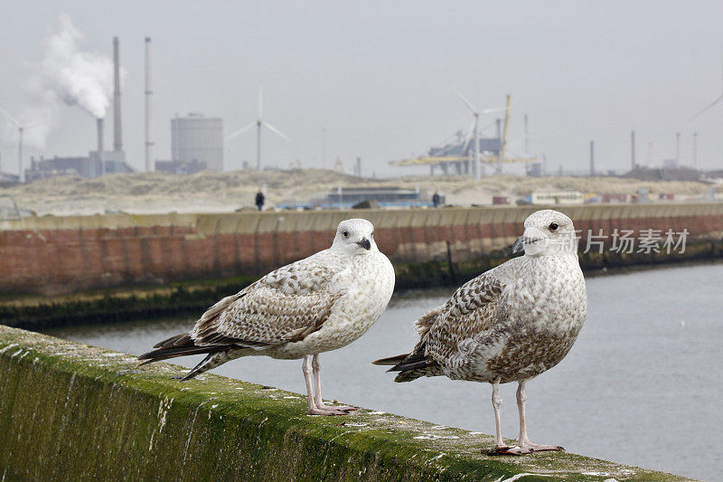
[[[393,365],[395,382],[445,375],[492,383],[496,445],[491,455],[562,450],[531,443],[525,419],[526,383],[559,364],[575,343],[587,315],[585,278],[577,260],[572,221],[552,210],[531,214],[515,241],[513,258],[455,291],[443,306],[420,317],[418,344],[408,354],[373,364]],[[502,441],[500,383],[519,383],[517,445]]]

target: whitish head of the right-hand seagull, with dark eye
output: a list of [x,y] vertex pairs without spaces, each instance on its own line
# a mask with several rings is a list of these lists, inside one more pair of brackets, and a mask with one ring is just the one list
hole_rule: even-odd
[[572,220],[559,211],[545,209],[525,220],[525,232],[514,242],[512,252],[528,256],[556,253],[577,254],[577,238]]

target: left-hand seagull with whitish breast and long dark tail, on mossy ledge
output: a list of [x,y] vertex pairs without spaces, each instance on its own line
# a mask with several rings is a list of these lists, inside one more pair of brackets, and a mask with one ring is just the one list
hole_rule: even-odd
[[[223,298],[188,333],[142,354],[146,363],[206,354],[183,380],[240,356],[303,359],[309,414],[344,415],[347,405],[324,405],[319,354],[362,336],[379,319],[394,289],[394,269],[363,219],[339,223],[332,247],[271,271]],[[312,379],[313,375],[313,379]]]

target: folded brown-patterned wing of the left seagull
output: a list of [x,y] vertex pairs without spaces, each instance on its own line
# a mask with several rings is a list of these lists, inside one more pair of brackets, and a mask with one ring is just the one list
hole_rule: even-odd
[[194,345],[264,348],[299,341],[330,316],[343,290],[315,257],[272,271],[209,308],[190,332]]

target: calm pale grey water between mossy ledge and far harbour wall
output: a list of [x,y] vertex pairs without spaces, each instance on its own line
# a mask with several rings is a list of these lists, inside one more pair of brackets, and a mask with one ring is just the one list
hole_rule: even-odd
[[[324,397],[493,433],[488,384],[446,378],[392,383],[371,360],[407,352],[412,321],[453,290],[394,298],[367,335],[322,354]],[[571,452],[723,480],[723,265],[587,279],[586,325],[568,357],[528,384],[531,440]],[[74,326],[48,333],[129,354],[186,331],[193,319]],[[201,356],[176,359],[191,366]],[[305,392],[301,361],[242,358],[215,373]],[[502,433],[517,436],[515,384],[502,386]]]

